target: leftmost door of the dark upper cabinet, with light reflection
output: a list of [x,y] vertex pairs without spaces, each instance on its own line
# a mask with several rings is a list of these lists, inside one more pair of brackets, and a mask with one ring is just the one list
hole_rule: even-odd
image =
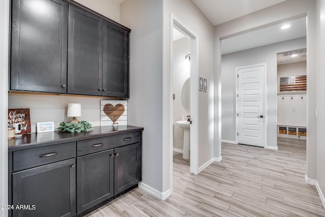
[[68,5],[12,1],[11,90],[66,93]]

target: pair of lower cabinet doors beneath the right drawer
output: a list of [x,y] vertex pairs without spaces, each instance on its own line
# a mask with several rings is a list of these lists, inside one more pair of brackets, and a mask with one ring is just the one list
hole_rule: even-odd
[[77,165],[77,212],[81,213],[141,181],[141,145],[78,157]]

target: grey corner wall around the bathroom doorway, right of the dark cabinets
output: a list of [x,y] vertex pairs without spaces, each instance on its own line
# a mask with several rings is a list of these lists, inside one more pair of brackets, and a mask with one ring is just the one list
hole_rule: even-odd
[[120,9],[120,22],[132,29],[128,121],[145,129],[142,183],[164,198],[172,185],[170,13],[199,35],[199,72],[209,82],[199,94],[199,165],[213,158],[213,26],[187,0],[126,0]]

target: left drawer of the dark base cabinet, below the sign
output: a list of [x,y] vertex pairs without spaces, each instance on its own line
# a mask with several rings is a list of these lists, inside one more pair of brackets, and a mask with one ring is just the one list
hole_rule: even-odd
[[14,151],[13,171],[25,170],[74,157],[76,157],[75,142]]

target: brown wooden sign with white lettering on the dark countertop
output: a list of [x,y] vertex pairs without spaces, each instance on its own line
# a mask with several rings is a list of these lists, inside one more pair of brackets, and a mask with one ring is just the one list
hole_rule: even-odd
[[13,127],[14,123],[21,123],[19,134],[30,133],[29,108],[8,109],[8,128]]

